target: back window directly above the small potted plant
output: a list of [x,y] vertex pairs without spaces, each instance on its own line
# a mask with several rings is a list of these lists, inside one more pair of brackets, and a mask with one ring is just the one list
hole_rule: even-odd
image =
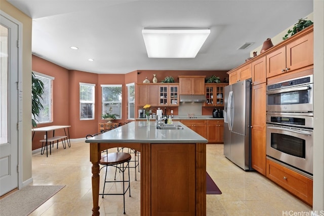
[[121,87],[122,85],[101,85],[102,114],[116,114],[116,118],[121,119]]

